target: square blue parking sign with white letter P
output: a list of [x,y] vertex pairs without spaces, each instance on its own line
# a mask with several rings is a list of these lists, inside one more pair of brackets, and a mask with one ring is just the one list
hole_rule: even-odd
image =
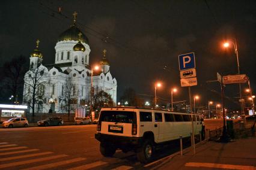
[[187,53],[179,55],[178,65],[180,66],[180,71],[195,68],[195,54]]

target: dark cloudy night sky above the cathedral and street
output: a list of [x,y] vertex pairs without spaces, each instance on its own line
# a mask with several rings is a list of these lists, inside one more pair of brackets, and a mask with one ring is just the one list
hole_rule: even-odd
[[[187,87],[180,87],[178,55],[193,51],[198,86],[192,93],[200,95],[202,105],[220,101],[219,84],[206,81],[216,80],[216,72],[237,73],[234,48],[222,47],[232,38],[237,40],[240,72],[250,78],[252,92],[256,90],[256,1],[1,1],[1,64],[20,54],[29,58],[37,39],[43,63],[54,63],[58,36],[72,24],[74,11],[89,39],[90,63],[99,62],[106,48],[118,98],[127,87],[150,98],[154,83],[162,81],[157,95],[170,100],[175,86],[174,100],[187,100]],[[235,104],[238,86],[225,90]]]

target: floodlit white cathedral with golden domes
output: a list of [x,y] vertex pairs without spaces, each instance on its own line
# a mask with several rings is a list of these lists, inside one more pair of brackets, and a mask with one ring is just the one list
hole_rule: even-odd
[[76,25],[76,15],[75,12],[70,28],[59,35],[54,64],[42,64],[43,54],[38,49],[37,40],[37,46],[31,53],[29,71],[24,78],[23,104],[30,105],[29,112],[32,112],[34,93],[35,113],[48,113],[49,110],[67,113],[63,107],[67,105],[67,85],[70,83],[70,96],[76,108],[90,105],[91,84],[94,95],[103,90],[111,96],[114,104],[117,102],[117,80],[109,71],[106,50],[103,50],[99,70],[96,71],[89,63],[91,50],[88,38]]

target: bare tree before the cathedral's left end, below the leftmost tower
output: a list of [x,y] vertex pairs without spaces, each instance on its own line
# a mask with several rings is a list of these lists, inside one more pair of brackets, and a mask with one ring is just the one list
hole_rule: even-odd
[[[47,72],[43,66],[37,68],[31,68],[25,74],[24,78],[24,93],[23,102],[28,104],[32,108],[32,118],[35,116],[35,104],[43,101],[44,90],[47,84]],[[46,101],[44,101],[46,102]]]

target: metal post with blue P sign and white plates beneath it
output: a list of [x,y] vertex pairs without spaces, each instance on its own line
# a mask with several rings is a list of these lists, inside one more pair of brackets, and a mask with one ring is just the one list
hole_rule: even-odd
[[195,54],[187,53],[178,56],[178,65],[180,68],[180,85],[181,87],[189,87],[189,105],[191,114],[191,126],[192,126],[192,147],[195,154],[195,134],[194,134],[194,121],[191,102],[191,86],[197,86],[197,73],[195,70]]

